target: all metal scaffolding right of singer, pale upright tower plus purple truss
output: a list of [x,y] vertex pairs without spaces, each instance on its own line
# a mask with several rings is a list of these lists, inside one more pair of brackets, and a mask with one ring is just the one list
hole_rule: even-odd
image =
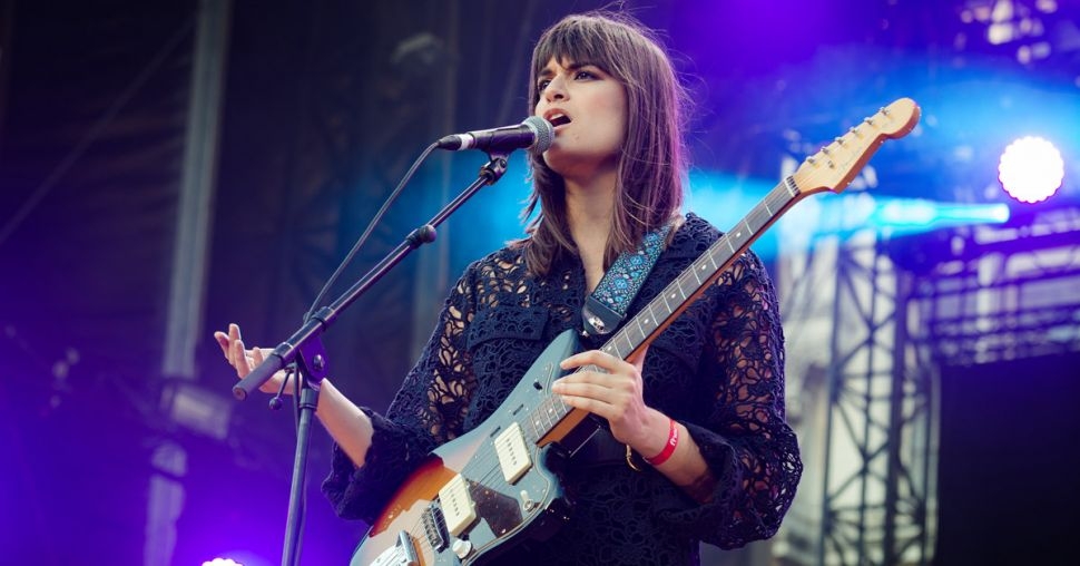
[[806,471],[777,556],[930,564],[940,368],[1080,351],[1080,209],[817,235],[778,274]]

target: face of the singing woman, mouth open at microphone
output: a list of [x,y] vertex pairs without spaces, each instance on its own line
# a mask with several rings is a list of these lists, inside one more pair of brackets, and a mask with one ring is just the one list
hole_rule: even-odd
[[627,97],[622,85],[587,62],[551,59],[537,77],[534,109],[554,126],[544,163],[564,178],[587,180],[615,170],[626,140]]

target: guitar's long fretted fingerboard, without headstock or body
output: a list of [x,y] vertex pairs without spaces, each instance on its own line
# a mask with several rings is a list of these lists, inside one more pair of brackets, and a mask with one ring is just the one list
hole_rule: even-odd
[[[705,289],[724,273],[724,270],[746,252],[766,228],[803,196],[805,195],[799,192],[793,177],[787,177],[773,187],[749,214],[714,242],[637,315],[628,320],[600,347],[600,350],[622,360],[634,359],[693,304]],[[581,370],[599,371],[592,365],[583,367]],[[571,419],[567,419],[571,416]],[[550,396],[529,416],[532,430],[536,431],[534,438],[530,440],[534,442],[541,438],[561,440],[585,416],[585,411],[566,404],[559,396]],[[566,420],[570,420],[571,426],[560,427]]]

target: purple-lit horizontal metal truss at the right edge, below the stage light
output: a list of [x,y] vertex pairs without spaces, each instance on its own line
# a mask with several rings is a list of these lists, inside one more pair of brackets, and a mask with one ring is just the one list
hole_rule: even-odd
[[932,244],[913,290],[942,365],[1080,351],[1080,207],[1009,226],[973,226]]

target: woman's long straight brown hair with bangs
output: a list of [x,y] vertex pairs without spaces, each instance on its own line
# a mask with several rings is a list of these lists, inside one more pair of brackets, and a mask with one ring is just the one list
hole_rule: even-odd
[[[595,11],[568,16],[540,36],[532,51],[529,113],[541,91],[538,75],[551,59],[562,64],[587,61],[622,84],[627,94],[626,143],[618,162],[618,187],[612,232],[605,252],[605,269],[624,251],[632,250],[646,233],[668,223],[683,206],[686,172],[683,110],[686,91],[670,59],[654,33],[629,16]],[[532,193],[522,211],[529,217],[526,246],[529,270],[546,275],[563,253],[576,254],[567,223],[564,184],[537,152],[529,153]]]

